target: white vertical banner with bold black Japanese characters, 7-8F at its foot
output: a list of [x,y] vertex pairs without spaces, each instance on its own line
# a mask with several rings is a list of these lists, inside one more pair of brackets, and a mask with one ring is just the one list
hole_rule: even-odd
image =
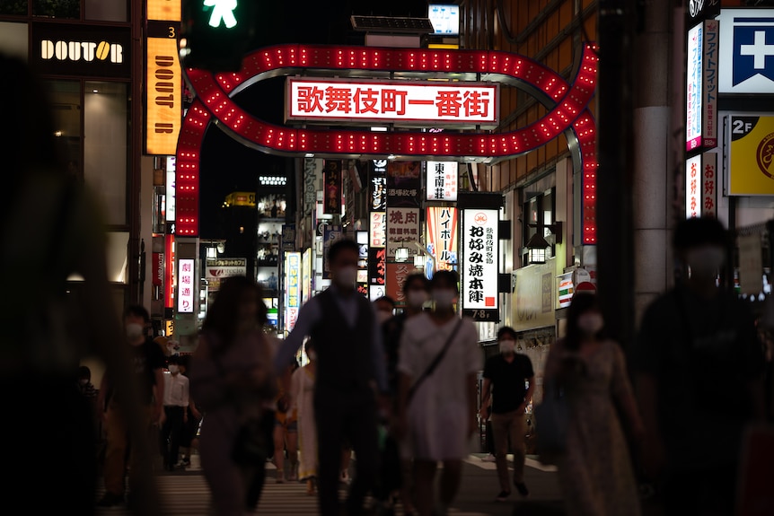
[[499,319],[499,211],[462,210],[460,283],[462,313],[476,320]]

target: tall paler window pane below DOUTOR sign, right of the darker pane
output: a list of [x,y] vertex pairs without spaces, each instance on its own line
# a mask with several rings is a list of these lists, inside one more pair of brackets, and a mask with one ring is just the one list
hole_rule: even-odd
[[106,223],[127,223],[128,83],[84,83],[84,179]]

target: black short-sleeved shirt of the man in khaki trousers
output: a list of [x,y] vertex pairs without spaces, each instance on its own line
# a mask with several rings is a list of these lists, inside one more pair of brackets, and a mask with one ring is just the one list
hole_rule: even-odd
[[511,363],[502,354],[490,356],[484,365],[484,378],[492,382],[492,412],[506,414],[523,404],[526,381],[534,375],[532,361],[526,354],[515,354]]

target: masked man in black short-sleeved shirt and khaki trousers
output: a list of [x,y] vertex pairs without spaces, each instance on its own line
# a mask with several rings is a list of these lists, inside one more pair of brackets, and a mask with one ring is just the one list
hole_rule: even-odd
[[519,494],[529,494],[524,485],[524,459],[526,459],[526,419],[524,409],[535,390],[535,373],[532,361],[525,354],[515,352],[516,333],[513,328],[497,331],[500,354],[488,358],[484,365],[484,385],[481,389],[481,418],[489,416],[489,397],[492,397],[492,436],[495,441],[497,477],[500,494],[497,502],[505,502],[511,494],[508,478],[508,440],[514,451],[514,485]]

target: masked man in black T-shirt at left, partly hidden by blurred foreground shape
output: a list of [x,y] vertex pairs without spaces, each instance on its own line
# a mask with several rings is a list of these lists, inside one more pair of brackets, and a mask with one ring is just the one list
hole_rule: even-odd
[[[150,315],[145,307],[132,305],[124,312],[124,330],[129,345],[132,369],[136,374],[137,385],[141,389],[143,414],[148,428],[152,424],[163,424],[164,399],[164,354],[150,337],[145,328],[150,323]],[[124,502],[124,474],[127,468],[128,422],[126,407],[122,406],[120,385],[113,385],[108,375],[102,377],[98,407],[104,420],[107,449],[105,450],[105,495],[99,502],[101,507],[111,507]],[[134,448],[130,450],[129,462],[133,465],[129,471],[129,495],[127,502],[132,503],[132,491],[140,485],[136,475],[142,471],[136,467],[137,457]],[[137,472],[137,473],[135,473]],[[134,474],[134,475],[133,475]]]

